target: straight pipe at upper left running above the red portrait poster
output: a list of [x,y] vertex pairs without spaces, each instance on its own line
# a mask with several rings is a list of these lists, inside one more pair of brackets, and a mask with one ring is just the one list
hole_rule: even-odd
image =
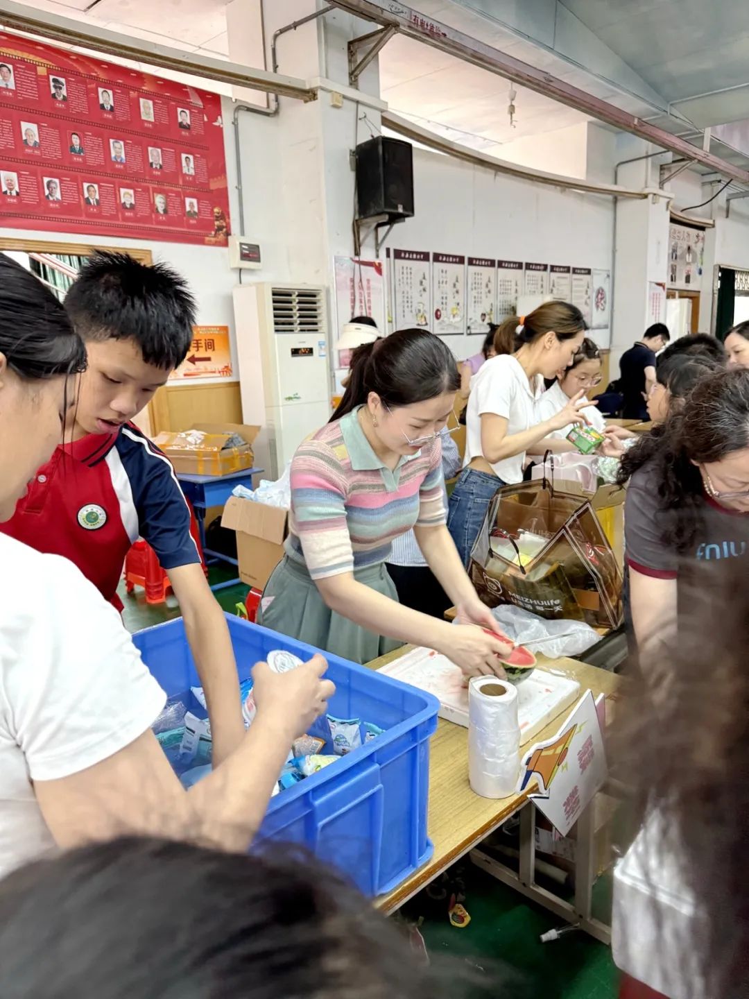
[[182,49],[153,42],[140,41],[136,45],[128,35],[122,35],[93,24],[82,25],[58,14],[48,14],[33,7],[15,3],[14,0],[0,0],[0,24],[15,31],[25,31],[42,38],[62,42],[65,46],[82,46],[104,53],[110,58],[131,59],[145,62],[161,69],[176,70],[191,76],[203,77],[228,83],[234,87],[246,87],[266,93],[294,97],[300,101],[317,100],[318,92],[306,80],[292,76],[269,73],[241,63],[213,59],[210,56],[196,55]]

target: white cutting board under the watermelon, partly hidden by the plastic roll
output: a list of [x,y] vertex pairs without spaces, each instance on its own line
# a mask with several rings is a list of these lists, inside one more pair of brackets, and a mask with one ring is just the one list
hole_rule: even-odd
[[[468,727],[466,679],[459,666],[445,655],[430,648],[414,648],[386,666],[380,666],[378,672],[433,693],[440,704],[440,718]],[[580,692],[577,680],[539,668],[516,686],[521,745],[573,704]]]

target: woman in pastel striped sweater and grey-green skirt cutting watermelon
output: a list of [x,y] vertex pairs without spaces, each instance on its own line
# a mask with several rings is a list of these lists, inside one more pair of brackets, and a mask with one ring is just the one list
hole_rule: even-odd
[[[496,630],[445,526],[440,437],[459,384],[452,354],[424,330],[360,348],[333,419],[292,462],[286,555],[263,594],[261,623],[355,662],[412,642],[466,674],[502,673],[495,653],[506,644],[468,626]],[[384,562],[411,527],[459,625],[398,603]]]

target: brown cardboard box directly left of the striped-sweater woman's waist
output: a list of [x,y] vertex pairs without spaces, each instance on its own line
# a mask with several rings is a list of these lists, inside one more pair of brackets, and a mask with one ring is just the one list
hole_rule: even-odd
[[224,507],[221,525],[237,531],[240,578],[248,586],[263,589],[284,557],[289,510],[230,497]]

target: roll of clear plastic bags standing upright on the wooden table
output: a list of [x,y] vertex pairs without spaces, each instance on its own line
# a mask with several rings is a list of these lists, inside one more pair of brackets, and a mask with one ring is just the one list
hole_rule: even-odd
[[468,780],[483,798],[505,798],[520,766],[517,687],[495,676],[468,684]]

